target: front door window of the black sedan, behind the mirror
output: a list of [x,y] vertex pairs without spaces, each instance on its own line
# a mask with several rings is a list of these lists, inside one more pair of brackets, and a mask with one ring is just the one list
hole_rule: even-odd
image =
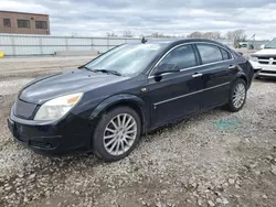
[[180,69],[195,66],[197,61],[192,45],[174,48],[160,62],[160,65],[164,63],[177,65]]

